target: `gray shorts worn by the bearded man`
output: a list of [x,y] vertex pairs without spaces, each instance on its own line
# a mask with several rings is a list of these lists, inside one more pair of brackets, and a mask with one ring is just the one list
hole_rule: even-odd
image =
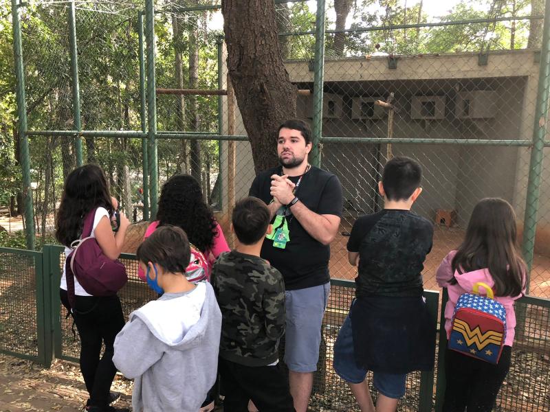
[[285,363],[294,372],[314,372],[319,360],[322,317],[331,284],[287,290]]

